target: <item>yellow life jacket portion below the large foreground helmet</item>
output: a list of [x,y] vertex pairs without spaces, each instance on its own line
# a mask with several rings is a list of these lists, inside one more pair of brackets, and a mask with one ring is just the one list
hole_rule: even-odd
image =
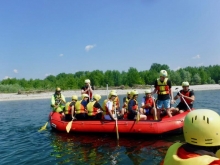
[[181,159],[178,157],[177,151],[182,145],[182,143],[175,143],[170,146],[164,159],[164,165],[208,165],[214,160],[219,160],[218,158],[209,155]]

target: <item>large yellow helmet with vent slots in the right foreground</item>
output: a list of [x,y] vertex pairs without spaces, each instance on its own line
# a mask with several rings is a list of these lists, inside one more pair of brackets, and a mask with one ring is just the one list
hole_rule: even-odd
[[197,146],[220,145],[220,116],[209,109],[197,109],[187,114],[184,120],[185,141]]

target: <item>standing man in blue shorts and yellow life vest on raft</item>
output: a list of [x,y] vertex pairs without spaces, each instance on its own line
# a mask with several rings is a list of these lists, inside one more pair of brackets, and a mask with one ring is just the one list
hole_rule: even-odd
[[154,83],[152,95],[157,93],[157,109],[161,111],[162,107],[166,109],[169,117],[172,117],[170,104],[173,104],[173,91],[171,81],[167,78],[166,70],[160,71],[160,78]]

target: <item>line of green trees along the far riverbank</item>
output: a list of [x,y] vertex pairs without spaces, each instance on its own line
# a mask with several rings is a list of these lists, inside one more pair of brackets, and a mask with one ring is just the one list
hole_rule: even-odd
[[130,67],[128,71],[117,70],[78,71],[76,73],[60,73],[56,76],[49,75],[45,79],[16,79],[8,78],[0,81],[0,92],[18,92],[28,90],[54,90],[61,87],[63,90],[80,89],[85,79],[90,79],[96,88],[108,86],[133,87],[135,85],[153,85],[159,77],[160,70],[166,70],[172,85],[181,85],[188,81],[190,85],[220,84],[220,65],[186,67],[176,71],[171,70],[166,64],[153,63],[149,70],[138,71]]

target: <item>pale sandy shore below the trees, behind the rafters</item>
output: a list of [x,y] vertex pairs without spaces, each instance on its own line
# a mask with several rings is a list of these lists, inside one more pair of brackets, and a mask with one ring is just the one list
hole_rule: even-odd
[[[176,91],[176,88],[181,89],[181,86],[173,86],[173,91]],[[209,84],[209,85],[194,85],[190,86],[190,89],[193,89],[195,91],[200,90],[220,90],[219,84]],[[132,89],[126,89],[126,90],[117,90],[118,95],[125,95],[128,91]],[[110,90],[109,90],[110,91]],[[139,93],[144,93],[145,89],[137,89]],[[72,95],[80,96],[80,90],[76,91],[62,91],[62,94],[65,97],[71,97]],[[54,92],[47,92],[47,93],[40,93],[40,94],[20,94],[17,93],[10,93],[10,94],[2,94],[0,93],[0,101],[11,101],[11,100],[31,100],[31,99],[49,99],[53,95]],[[102,96],[107,96],[107,90],[94,90],[94,94],[100,94]]]

